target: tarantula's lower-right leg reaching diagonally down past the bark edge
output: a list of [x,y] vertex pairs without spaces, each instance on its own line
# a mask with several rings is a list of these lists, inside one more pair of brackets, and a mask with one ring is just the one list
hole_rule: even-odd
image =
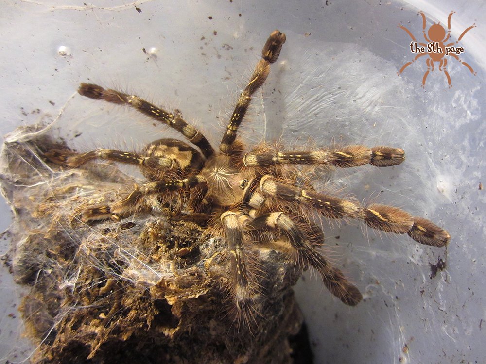
[[[266,213],[258,216],[245,225],[248,230],[275,229],[282,232],[297,253],[298,260],[304,266],[311,265],[322,277],[322,281],[329,291],[349,306],[356,306],[363,298],[358,288],[347,281],[341,270],[333,267],[306,238],[305,234],[296,226],[292,219],[283,212]],[[320,240],[324,240],[324,235]]]

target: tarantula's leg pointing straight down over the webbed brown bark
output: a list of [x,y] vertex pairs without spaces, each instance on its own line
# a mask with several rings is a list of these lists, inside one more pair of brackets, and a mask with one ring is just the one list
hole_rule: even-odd
[[250,322],[254,320],[253,301],[258,292],[258,284],[248,269],[248,257],[243,249],[242,219],[246,218],[246,215],[233,211],[226,211],[221,215],[231,259],[233,303],[237,322],[243,322],[246,327],[250,327]]

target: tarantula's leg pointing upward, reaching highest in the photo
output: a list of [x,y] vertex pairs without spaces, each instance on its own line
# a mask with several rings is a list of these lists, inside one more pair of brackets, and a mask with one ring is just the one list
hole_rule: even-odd
[[253,94],[265,83],[265,80],[270,73],[270,64],[278,59],[282,45],[285,43],[285,34],[275,30],[267,39],[263,50],[261,51],[261,59],[258,61],[255,70],[250,78],[250,81],[242,91],[240,97],[236,101],[235,109],[231,115],[226,133],[223,136],[219,149],[224,154],[232,154],[234,152],[233,142],[236,139],[236,133],[243,118],[250,105]]

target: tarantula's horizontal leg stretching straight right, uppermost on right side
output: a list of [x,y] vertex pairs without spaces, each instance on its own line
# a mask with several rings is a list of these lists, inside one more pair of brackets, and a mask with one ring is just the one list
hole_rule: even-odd
[[335,149],[314,151],[288,151],[271,153],[246,153],[243,164],[247,167],[290,165],[333,165],[347,168],[371,164],[377,167],[399,165],[405,160],[405,152],[400,148],[363,145],[349,145]]

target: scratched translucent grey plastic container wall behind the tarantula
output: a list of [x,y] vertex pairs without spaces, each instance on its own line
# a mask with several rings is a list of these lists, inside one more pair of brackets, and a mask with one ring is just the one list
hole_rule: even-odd
[[[355,308],[305,275],[296,287],[316,363],[465,363],[484,359],[486,184],[485,6],[384,1],[22,1],[2,5],[0,60],[3,135],[18,125],[54,120],[76,148],[137,148],[177,136],[124,108],[83,99],[80,82],[126,89],[177,107],[217,144],[239,87],[275,28],[287,34],[279,61],[242,127],[248,142],[363,143],[406,151],[394,168],[338,171],[335,189],[399,206],[451,233],[447,249],[419,246],[356,222],[323,223],[330,257],[364,293]],[[89,3],[91,4],[91,3]],[[140,12],[137,10],[140,10]],[[447,22],[461,40],[442,72],[421,81],[425,57],[413,58],[403,23],[421,38]],[[145,52],[143,51],[145,50]],[[71,98],[72,96],[72,98]],[[77,137],[75,137],[77,135]],[[8,206],[2,201],[4,216]],[[9,218],[1,222],[6,228]],[[2,240],[1,252],[7,250]],[[442,258],[445,271],[431,276]],[[20,289],[1,268],[0,359],[26,360],[20,338]]]

